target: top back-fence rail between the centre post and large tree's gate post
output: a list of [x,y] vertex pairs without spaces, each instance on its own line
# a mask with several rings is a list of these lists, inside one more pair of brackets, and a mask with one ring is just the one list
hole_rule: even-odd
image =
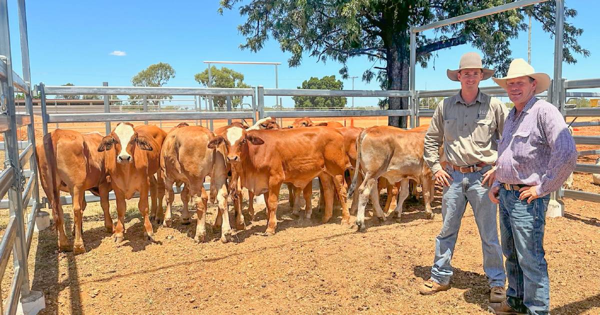
[[329,90],[329,89],[265,89],[265,96],[347,96],[347,97],[410,97],[410,91]]

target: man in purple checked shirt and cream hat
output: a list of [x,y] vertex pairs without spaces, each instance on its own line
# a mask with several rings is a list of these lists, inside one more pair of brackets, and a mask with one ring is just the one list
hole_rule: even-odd
[[544,258],[545,214],[550,193],[575,169],[577,149],[559,110],[535,97],[550,77],[514,59],[494,82],[515,107],[498,145],[490,199],[500,204],[500,235],[508,275],[507,299],[490,304],[496,314],[548,314],[550,283]]

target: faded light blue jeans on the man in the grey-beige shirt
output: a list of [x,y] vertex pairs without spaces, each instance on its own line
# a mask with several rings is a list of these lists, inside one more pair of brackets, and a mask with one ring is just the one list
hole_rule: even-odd
[[506,274],[496,227],[497,207],[488,197],[490,187],[487,183],[485,186],[481,184],[484,173],[490,169],[491,166],[487,166],[479,172],[461,173],[456,170],[448,172],[454,181],[443,190],[442,230],[436,238],[436,257],[431,267],[431,279],[439,284],[448,284],[452,277],[450,262],[460,223],[469,202],[481,237],[484,271],[488,283],[490,287],[504,287]]

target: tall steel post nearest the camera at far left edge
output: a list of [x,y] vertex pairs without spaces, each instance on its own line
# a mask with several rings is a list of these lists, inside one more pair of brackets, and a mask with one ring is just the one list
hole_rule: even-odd
[[[8,125],[10,130],[4,133],[8,161],[14,170],[14,182],[8,189],[10,216],[16,224],[16,237],[13,244],[14,275],[11,291],[8,296],[8,313],[14,314],[21,294],[29,295],[29,274],[27,268],[27,249],[25,222],[23,219],[23,184],[25,178],[19,163],[19,143],[17,142],[16,107],[14,104],[13,61],[10,49],[10,28],[8,26],[7,0],[0,1],[0,55],[6,56],[6,79],[2,82],[2,97],[6,101]],[[33,124],[34,122],[30,122]],[[21,280],[21,281],[19,281]],[[23,284],[26,284],[23,286]]]

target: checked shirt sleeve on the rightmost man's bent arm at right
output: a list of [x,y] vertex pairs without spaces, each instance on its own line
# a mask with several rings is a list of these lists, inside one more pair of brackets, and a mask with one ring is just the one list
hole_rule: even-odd
[[542,137],[550,146],[552,158],[548,164],[548,170],[542,176],[541,184],[536,188],[539,197],[559,189],[575,170],[578,157],[573,136],[559,110],[554,106],[546,108],[548,110],[540,115],[539,122]]

